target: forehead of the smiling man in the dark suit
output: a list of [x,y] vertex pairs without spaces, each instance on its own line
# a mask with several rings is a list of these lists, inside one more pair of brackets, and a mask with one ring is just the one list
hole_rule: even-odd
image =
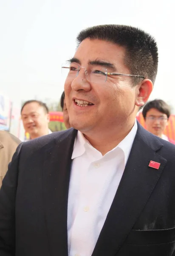
[[109,41],[86,38],[77,48],[74,57],[78,58],[81,64],[100,59],[124,65],[125,49]]

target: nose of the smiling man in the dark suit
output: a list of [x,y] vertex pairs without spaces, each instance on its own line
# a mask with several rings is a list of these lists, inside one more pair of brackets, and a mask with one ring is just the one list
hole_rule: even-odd
[[76,76],[75,79],[73,79],[71,83],[71,88],[74,91],[78,90],[85,90],[85,91],[90,91],[91,90],[91,85],[87,80],[87,76],[85,75],[86,70],[81,69]]

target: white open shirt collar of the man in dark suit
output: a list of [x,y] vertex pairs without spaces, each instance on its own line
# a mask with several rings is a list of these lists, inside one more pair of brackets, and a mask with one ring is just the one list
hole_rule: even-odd
[[[127,163],[128,157],[130,155],[130,151],[131,151],[131,148],[133,145],[133,141],[134,141],[136,132],[137,132],[137,122],[135,120],[133,128],[131,129],[129,134],[127,134],[127,136],[115,148],[113,148],[111,150],[111,151],[114,151],[114,150],[116,150],[116,148],[120,148],[124,152],[124,164],[125,165]],[[71,158],[74,159],[76,157],[82,156],[82,154],[85,153],[86,145],[89,146],[90,143],[88,142],[88,140],[85,139],[83,134],[80,131],[78,131],[75,142],[74,142],[73,153],[72,153]],[[110,154],[111,151],[107,152],[107,154]]]

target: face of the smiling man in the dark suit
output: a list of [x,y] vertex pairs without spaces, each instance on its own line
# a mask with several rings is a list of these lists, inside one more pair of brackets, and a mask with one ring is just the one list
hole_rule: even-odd
[[[116,44],[102,40],[85,39],[79,45],[72,64],[89,68],[106,64],[107,72],[130,74],[130,70],[124,64],[125,49]],[[98,73],[98,71],[97,71]],[[104,79],[105,80],[105,79]],[[127,119],[135,120],[135,100],[138,87],[132,87],[132,80],[125,76],[108,76],[102,83],[89,82],[85,76],[85,69],[81,68],[78,76],[65,81],[65,100],[69,113],[69,122],[73,128],[82,132],[103,131],[120,126]],[[86,101],[91,104],[77,105],[76,101]],[[82,104],[80,102],[80,104]]]

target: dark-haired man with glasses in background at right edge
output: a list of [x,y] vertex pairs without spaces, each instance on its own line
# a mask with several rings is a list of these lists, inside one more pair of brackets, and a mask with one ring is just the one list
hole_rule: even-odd
[[175,144],[173,140],[169,139],[164,134],[171,114],[170,107],[166,102],[162,99],[152,100],[144,106],[142,114],[144,116],[147,131],[150,131],[161,139]]

